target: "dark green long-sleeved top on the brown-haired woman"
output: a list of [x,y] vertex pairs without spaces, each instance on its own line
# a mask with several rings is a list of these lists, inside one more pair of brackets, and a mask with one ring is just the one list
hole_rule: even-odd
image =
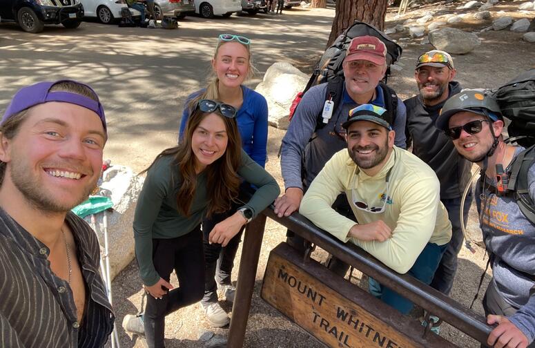
[[[280,193],[275,179],[264,168],[256,164],[242,151],[242,164],[238,175],[258,189],[251,200],[244,205],[253,211],[253,218],[266,209]],[[192,200],[190,216],[179,213],[176,196],[182,184],[178,166],[173,164],[173,156],[164,156],[156,160],[148,170],[142,192],[135,209],[134,239],[135,254],[139,264],[139,275],[147,286],[159,280],[159,274],[153,264],[153,238],[177,238],[192,231],[200,224],[206,213],[208,197],[206,173],[197,176],[197,186]]]

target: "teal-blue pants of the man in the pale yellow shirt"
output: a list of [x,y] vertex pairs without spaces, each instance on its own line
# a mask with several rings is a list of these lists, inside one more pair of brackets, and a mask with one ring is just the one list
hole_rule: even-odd
[[[438,267],[438,262],[440,262],[442,254],[444,254],[446,249],[447,244],[439,246],[435,243],[427,243],[407,274],[420,280],[420,282],[429,284]],[[407,300],[407,298],[404,298],[399,293],[396,293],[387,287],[383,287],[377,280],[371,277],[368,278],[368,281],[369,292],[373,296],[382,300],[387,305],[398,309],[398,311],[403,314],[408,314],[409,311],[411,311],[413,303]]]

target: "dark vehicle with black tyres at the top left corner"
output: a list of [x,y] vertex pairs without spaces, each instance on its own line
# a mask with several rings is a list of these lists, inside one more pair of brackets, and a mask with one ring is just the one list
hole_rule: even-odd
[[2,21],[14,21],[26,32],[41,32],[45,24],[78,28],[84,17],[79,0],[0,0]]

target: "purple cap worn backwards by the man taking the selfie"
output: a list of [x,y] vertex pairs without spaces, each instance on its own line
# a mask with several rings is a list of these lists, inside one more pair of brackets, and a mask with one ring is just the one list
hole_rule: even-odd
[[[52,88],[52,86],[54,86],[55,84],[59,84],[60,82],[74,82],[75,84],[86,86],[93,93],[95,93],[95,90],[93,90],[93,88],[90,88],[90,86],[86,84],[81,84],[78,81],[68,79],[58,80],[54,82],[39,82],[37,84],[32,84],[31,86],[23,87],[19,89],[17,93],[15,93],[15,95],[13,96],[11,103],[6,109],[6,113],[3,114],[0,126],[13,115],[20,113],[21,111],[26,110],[27,108],[31,108],[32,106],[36,106],[39,104],[44,104],[48,101],[62,101],[64,103],[83,106],[84,108],[88,108],[89,110],[95,112],[100,117],[102,126],[104,126],[104,131],[107,132],[108,129],[106,128],[106,117],[104,116],[104,108],[102,108],[102,104],[100,104],[100,101],[95,101],[91,98],[84,97],[83,95],[66,92],[64,90],[54,90],[50,92],[50,88]],[[95,93],[95,96],[97,96],[97,93]]]

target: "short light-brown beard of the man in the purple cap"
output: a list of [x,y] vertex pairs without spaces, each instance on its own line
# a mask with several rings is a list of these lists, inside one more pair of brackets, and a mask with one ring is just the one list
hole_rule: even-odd
[[[88,184],[87,187],[83,188],[79,197],[75,197],[74,200],[69,202],[67,197],[61,195],[61,191],[55,191],[53,188],[52,191],[47,189],[38,177],[32,175],[32,171],[25,164],[21,162],[17,162],[17,164],[12,162],[11,164],[9,174],[14,186],[32,206],[43,212],[66,213],[70,211],[70,209],[87,200],[97,184],[96,181],[93,184]],[[89,176],[93,176],[93,171],[91,172]],[[45,175],[48,174],[45,173]]]

